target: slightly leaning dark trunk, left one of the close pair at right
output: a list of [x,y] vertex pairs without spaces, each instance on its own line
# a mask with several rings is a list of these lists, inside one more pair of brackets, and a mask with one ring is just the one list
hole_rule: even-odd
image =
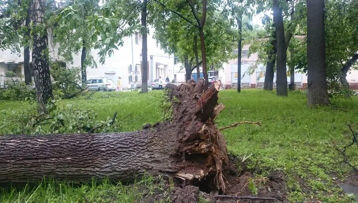
[[276,32],[272,32],[272,39],[270,42],[272,48],[268,53],[268,62],[266,64],[264,90],[273,90],[273,77],[274,77],[274,65],[276,63]]

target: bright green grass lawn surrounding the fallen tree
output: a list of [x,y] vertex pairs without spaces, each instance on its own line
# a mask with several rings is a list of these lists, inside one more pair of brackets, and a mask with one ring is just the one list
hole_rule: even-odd
[[[290,202],[352,202],[335,184],[336,178],[341,179],[352,171],[342,162],[343,156],[336,148],[342,149],[352,141],[348,125],[358,131],[357,96],[332,99],[329,107],[316,108],[306,107],[306,96],[300,91],[289,92],[287,98],[258,89],[243,90],[240,94],[235,90],[223,90],[219,96],[219,102],[226,108],[216,120],[218,127],[240,121],[263,122],[261,127],[244,124],[222,131],[229,152],[245,159],[238,166],[241,170],[249,169],[260,177],[273,170],[282,170],[286,174]],[[98,92],[91,99],[62,100],[58,105],[72,104],[92,110],[98,120],[105,120],[117,111],[120,129],[125,132],[160,121],[161,97],[162,91],[148,94]],[[0,102],[0,113],[4,115],[0,122],[6,120],[9,112],[30,108],[33,106],[25,101]],[[0,127],[0,134],[4,134],[6,126]],[[355,166],[358,166],[357,149],[355,145],[347,149],[348,160]],[[145,177],[131,188],[106,182],[81,187],[42,183],[33,189],[3,189],[0,202],[134,202],[140,199],[140,185],[152,189],[159,187],[153,185],[152,179]]]

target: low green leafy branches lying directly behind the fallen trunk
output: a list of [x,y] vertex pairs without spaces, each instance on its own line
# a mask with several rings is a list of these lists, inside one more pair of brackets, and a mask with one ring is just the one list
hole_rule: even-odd
[[[33,100],[29,100],[33,102]],[[61,133],[88,133],[92,132],[118,132],[119,120],[110,124],[112,117],[106,120],[98,120],[96,114],[90,110],[81,110],[68,104],[56,106],[53,100],[47,105],[48,114],[38,114],[36,108],[26,111],[2,110],[1,114],[6,119],[0,120],[0,134],[3,135],[46,135]]]

